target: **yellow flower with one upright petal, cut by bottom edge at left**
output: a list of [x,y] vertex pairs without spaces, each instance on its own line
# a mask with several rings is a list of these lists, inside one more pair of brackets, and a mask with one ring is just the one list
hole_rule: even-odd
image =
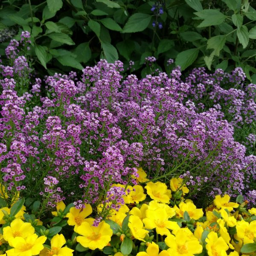
[[64,244],[66,244],[64,236],[57,234],[51,240],[51,249],[45,247],[39,256],[73,256],[74,250],[66,246],[62,247]]

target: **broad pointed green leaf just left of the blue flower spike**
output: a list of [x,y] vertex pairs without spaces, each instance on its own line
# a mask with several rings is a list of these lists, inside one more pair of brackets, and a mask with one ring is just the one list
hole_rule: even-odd
[[135,13],[129,17],[125,24],[122,32],[123,33],[134,33],[140,32],[147,28],[150,23],[151,15],[145,13]]

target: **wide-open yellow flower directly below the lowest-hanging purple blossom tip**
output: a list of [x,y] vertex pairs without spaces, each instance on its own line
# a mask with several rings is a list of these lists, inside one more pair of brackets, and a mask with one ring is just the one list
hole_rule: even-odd
[[78,236],[76,241],[91,250],[96,248],[103,249],[111,240],[113,231],[105,221],[100,222],[98,227],[92,226],[93,221],[93,218],[89,218],[87,221],[82,222],[76,231],[81,236]]

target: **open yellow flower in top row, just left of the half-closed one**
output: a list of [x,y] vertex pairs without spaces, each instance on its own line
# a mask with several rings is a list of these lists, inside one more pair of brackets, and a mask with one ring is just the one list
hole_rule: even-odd
[[147,194],[151,197],[151,199],[163,204],[168,204],[172,197],[171,190],[167,189],[165,183],[159,181],[156,183],[151,181],[148,182],[147,186],[145,186],[145,189],[147,189]]

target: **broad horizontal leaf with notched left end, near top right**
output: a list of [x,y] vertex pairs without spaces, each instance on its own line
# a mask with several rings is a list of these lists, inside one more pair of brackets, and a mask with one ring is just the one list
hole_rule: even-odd
[[195,12],[195,15],[203,19],[203,21],[198,25],[198,28],[219,25],[223,23],[226,18],[223,13],[215,9],[205,9],[201,12]]

